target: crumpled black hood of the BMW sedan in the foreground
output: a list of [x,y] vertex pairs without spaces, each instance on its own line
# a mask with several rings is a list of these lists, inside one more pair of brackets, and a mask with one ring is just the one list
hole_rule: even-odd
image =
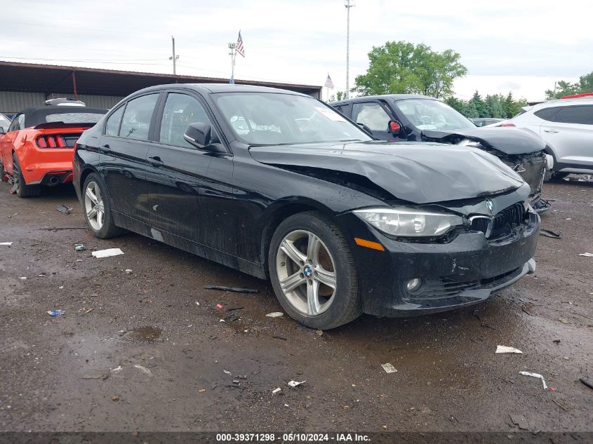
[[368,178],[398,199],[437,203],[521,187],[524,181],[481,149],[419,142],[251,147],[255,161]]

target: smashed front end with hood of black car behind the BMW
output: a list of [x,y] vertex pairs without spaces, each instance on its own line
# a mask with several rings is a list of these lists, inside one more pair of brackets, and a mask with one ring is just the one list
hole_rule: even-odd
[[531,188],[531,206],[538,213],[545,213],[551,204],[542,199],[542,185],[549,169],[545,142],[531,130],[522,128],[476,128],[455,133],[425,130],[422,138],[432,142],[459,144],[482,149],[498,157]]

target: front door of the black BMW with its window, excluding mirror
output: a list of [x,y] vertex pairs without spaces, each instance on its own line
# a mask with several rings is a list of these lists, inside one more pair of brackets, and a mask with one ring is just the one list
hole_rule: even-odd
[[204,104],[187,93],[166,93],[157,120],[156,140],[150,144],[147,155],[150,224],[202,243],[204,215],[199,191],[207,182],[206,173],[213,158],[210,151],[196,148],[183,135],[187,126],[196,122],[212,126],[214,141],[218,135]]

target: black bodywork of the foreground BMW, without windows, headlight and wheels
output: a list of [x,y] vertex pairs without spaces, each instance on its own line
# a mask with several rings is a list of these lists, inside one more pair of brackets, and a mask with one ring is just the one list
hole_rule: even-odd
[[[429,142],[249,146],[216,107],[212,95],[221,91],[298,95],[236,85],[138,91],[80,138],[74,155],[79,199],[85,178],[98,173],[119,227],[258,278],[268,276],[267,251],[279,223],[317,210],[347,238],[363,310],[377,316],[474,304],[535,268],[531,258],[539,217],[526,205],[530,189],[490,154]],[[105,135],[105,122],[119,107],[150,93],[161,97],[147,140]],[[165,96],[173,93],[204,105],[219,137],[217,149],[178,147],[159,139]],[[124,142],[133,147],[114,149]],[[465,222],[439,238],[412,241],[384,234],[353,213],[401,204],[439,208]],[[364,248],[355,238],[380,243],[385,250]],[[427,285],[411,297],[402,285],[414,277]]]

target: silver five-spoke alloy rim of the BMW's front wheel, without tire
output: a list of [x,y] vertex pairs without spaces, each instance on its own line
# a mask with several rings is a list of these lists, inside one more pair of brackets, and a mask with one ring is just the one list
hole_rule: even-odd
[[286,299],[303,314],[318,316],[335,299],[335,262],[311,231],[295,230],[284,236],[276,252],[276,272]]

